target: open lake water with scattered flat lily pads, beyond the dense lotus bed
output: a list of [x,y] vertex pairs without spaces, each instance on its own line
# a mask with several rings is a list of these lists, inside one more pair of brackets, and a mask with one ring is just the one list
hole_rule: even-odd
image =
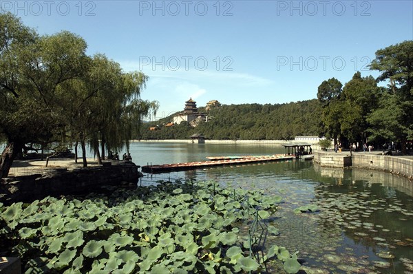
[[[206,156],[283,154],[284,147],[134,143],[130,151],[137,165],[157,165]],[[141,183],[175,179],[216,180],[282,196],[276,215],[267,223],[281,234],[268,237],[266,246],[299,251],[308,273],[413,272],[413,183],[405,178],[363,169],[321,169],[311,161],[290,160],[145,174]],[[316,204],[319,211],[293,213],[306,204]]]

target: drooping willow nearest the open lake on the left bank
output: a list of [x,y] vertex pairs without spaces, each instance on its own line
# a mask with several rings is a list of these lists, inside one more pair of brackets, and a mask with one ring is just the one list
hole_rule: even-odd
[[143,116],[156,111],[156,102],[140,99],[146,81],[145,74],[125,74],[118,63],[104,54],[96,54],[89,58],[81,80],[63,86],[70,136],[74,142],[81,143],[84,167],[87,166],[86,144],[101,164],[106,148],[128,147],[132,129],[140,125]]

